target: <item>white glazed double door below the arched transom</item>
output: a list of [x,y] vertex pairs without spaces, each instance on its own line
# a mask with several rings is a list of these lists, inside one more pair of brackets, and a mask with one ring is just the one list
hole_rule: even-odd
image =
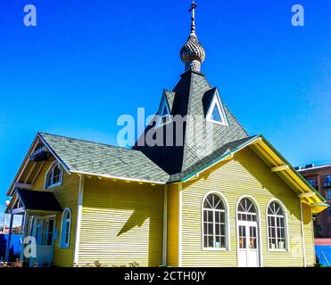
[[259,267],[259,240],[257,223],[238,224],[238,265],[239,267]]

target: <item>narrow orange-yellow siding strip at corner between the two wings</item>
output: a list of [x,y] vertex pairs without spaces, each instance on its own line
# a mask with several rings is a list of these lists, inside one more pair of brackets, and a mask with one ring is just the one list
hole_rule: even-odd
[[167,264],[178,266],[178,184],[168,185]]

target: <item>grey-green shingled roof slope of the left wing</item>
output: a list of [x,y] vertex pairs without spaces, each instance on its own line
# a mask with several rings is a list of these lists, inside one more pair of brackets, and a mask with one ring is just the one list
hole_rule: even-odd
[[39,133],[70,172],[166,183],[170,177],[143,152],[98,142]]

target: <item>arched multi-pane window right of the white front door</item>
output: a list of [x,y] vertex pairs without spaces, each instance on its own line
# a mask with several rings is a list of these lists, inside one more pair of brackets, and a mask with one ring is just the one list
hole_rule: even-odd
[[269,249],[286,248],[285,211],[277,201],[269,203],[268,207],[268,237]]

